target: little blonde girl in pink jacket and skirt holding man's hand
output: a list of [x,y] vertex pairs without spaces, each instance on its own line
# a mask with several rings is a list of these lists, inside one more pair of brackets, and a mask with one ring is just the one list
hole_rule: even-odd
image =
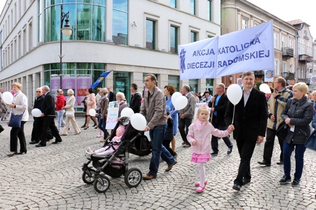
[[207,180],[205,179],[204,162],[209,162],[211,158],[211,134],[217,137],[228,136],[234,129],[232,125],[227,130],[214,129],[209,123],[210,112],[206,106],[201,106],[197,110],[195,121],[189,126],[188,142],[192,145],[191,162],[197,163],[197,169],[200,175],[200,182],[196,182],[196,192],[202,193],[205,190]]

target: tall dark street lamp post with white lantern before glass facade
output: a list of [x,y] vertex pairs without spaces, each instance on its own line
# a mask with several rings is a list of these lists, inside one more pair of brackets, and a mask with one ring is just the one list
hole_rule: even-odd
[[[60,58],[60,72],[59,72],[59,75],[60,75],[60,89],[63,91],[63,83],[62,83],[63,63],[62,63],[62,59],[63,59],[64,56],[62,55],[62,50],[61,50],[62,49],[62,41],[63,41],[63,35],[64,36],[70,36],[71,33],[72,33],[72,29],[70,28],[70,25],[69,25],[69,19],[68,19],[69,12],[65,14],[64,11],[63,11],[63,5],[60,5],[60,6],[61,6],[61,9],[60,9],[60,55],[59,55],[59,58]],[[65,26],[63,28],[64,20],[65,20]]]

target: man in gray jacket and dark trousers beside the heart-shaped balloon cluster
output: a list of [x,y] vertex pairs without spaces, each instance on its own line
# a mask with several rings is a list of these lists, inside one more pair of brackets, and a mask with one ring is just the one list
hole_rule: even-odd
[[[194,111],[195,111],[195,98],[190,93],[190,86],[184,85],[181,88],[181,93],[188,99],[188,104],[184,109],[180,110],[180,119],[179,119],[179,125],[178,129],[181,135],[181,138],[183,140],[182,145],[184,147],[190,147],[190,143],[187,140],[187,135],[189,131],[189,126],[192,124],[192,119],[194,117]],[[185,130],[184,130],[185,128]]]

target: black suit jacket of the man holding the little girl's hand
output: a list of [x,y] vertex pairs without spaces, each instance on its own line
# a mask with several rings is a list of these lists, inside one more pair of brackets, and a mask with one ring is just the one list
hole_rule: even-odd
[[226,125],[231,125],[232,120],[235,130],[233,132],[234,139],[256,141],[258,136],[265,136],[268,109],[265,94],[255,88],[252,88],[250,96],[244,106],[244,96],[235,106],[229,101],[225,113]]

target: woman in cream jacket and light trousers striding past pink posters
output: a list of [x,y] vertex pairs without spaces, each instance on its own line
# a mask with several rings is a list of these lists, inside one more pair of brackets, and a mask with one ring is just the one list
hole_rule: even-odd
[[69,126],[70,126],[70,122],[72,125],[72,128],[74,129],[74,134],[78,135],[79,133],[81,133],[81,130],[79,129],[79,126],[77,124],[77,122],[74,119],[74,109],[73,106],[76,102],[76,98],[73,96],[74,92],[72,89],[69,89],[67,91],[67,95],[69,96],[67,101],[66,101],[66,106],[62,107],[62,110],[66,110],[66,125],[65,128],[63,130],[63,133],[61,134],[62,136],[68,135],[68,130],[69,130]]

